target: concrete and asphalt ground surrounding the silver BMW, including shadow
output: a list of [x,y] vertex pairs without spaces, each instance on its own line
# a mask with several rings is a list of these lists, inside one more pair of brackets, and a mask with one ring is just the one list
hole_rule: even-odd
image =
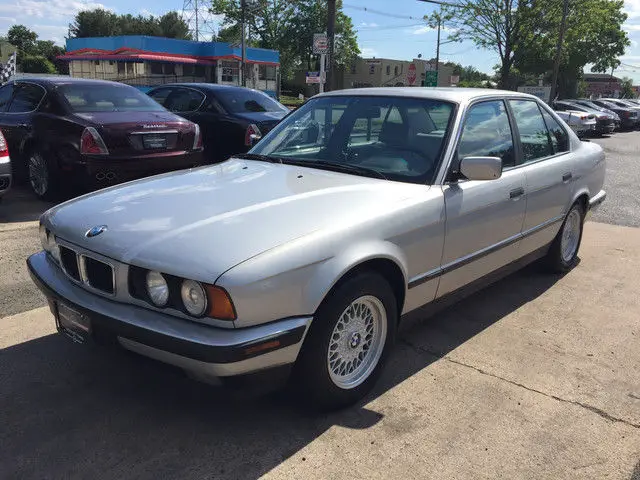
[[580,265],[535,266],[408,322],[375,392],[313,415],[55,334],[0,205],[0,478],[640,479],[640,132],[594,140],[608,198]]

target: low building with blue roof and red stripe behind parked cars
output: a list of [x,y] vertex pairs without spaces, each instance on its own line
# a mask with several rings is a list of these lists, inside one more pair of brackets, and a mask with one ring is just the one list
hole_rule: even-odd
[[[61,60],[69,75],[113,80],[142,90],[174,82],[242,84],[242,50],[221,42],[193,42],[141,35],[70,38]],[[246,49],[246,86],[275,95],[280,55],[275,50]]]

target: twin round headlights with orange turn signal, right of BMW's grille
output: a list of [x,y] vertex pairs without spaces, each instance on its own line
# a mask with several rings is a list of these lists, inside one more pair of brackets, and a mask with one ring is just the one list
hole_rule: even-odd
[[129,272],[131,295],[157,308],[173,308],[192,317],[236,318],[233,302],[221,287],[135,266]]

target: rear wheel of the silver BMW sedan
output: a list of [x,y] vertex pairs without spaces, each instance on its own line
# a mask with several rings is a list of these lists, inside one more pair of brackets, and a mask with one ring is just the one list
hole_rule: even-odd
[[552,272],[565,273],[576,265],[582,242],[584,216],[584,207],[580,203],[574,203],[547,253],[546,263]]

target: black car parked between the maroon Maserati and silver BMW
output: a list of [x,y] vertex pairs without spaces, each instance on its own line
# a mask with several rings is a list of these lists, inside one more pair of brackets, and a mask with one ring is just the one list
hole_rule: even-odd
[[206,162],[249,150],[289,109],[259,90],[211,83],[174,83],[147,92],[167,110],[200,125]]

